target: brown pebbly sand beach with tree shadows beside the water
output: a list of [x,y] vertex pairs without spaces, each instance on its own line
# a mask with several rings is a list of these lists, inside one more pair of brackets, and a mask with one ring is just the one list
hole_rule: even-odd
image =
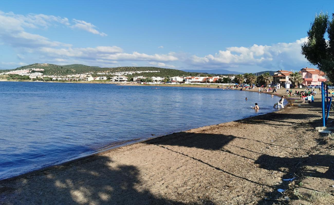
[[291,98],[274,113],[0,181],[0,204],[333,204],[333,136],[315,130],[321,95]]

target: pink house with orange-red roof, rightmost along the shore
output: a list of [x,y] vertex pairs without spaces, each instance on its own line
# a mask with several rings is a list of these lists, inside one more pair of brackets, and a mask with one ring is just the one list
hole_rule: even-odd
[[300,70],[302,74],[304,85],[321,85],[321,82],[327,81],[326,74],[321,70],[314,69],[314,68],[302,68]]

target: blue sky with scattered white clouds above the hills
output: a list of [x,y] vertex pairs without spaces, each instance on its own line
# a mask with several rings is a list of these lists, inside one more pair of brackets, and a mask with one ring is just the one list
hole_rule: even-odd
[[7,1],[0,67],[80,63],[239,72],[297,70],[334,1]]

